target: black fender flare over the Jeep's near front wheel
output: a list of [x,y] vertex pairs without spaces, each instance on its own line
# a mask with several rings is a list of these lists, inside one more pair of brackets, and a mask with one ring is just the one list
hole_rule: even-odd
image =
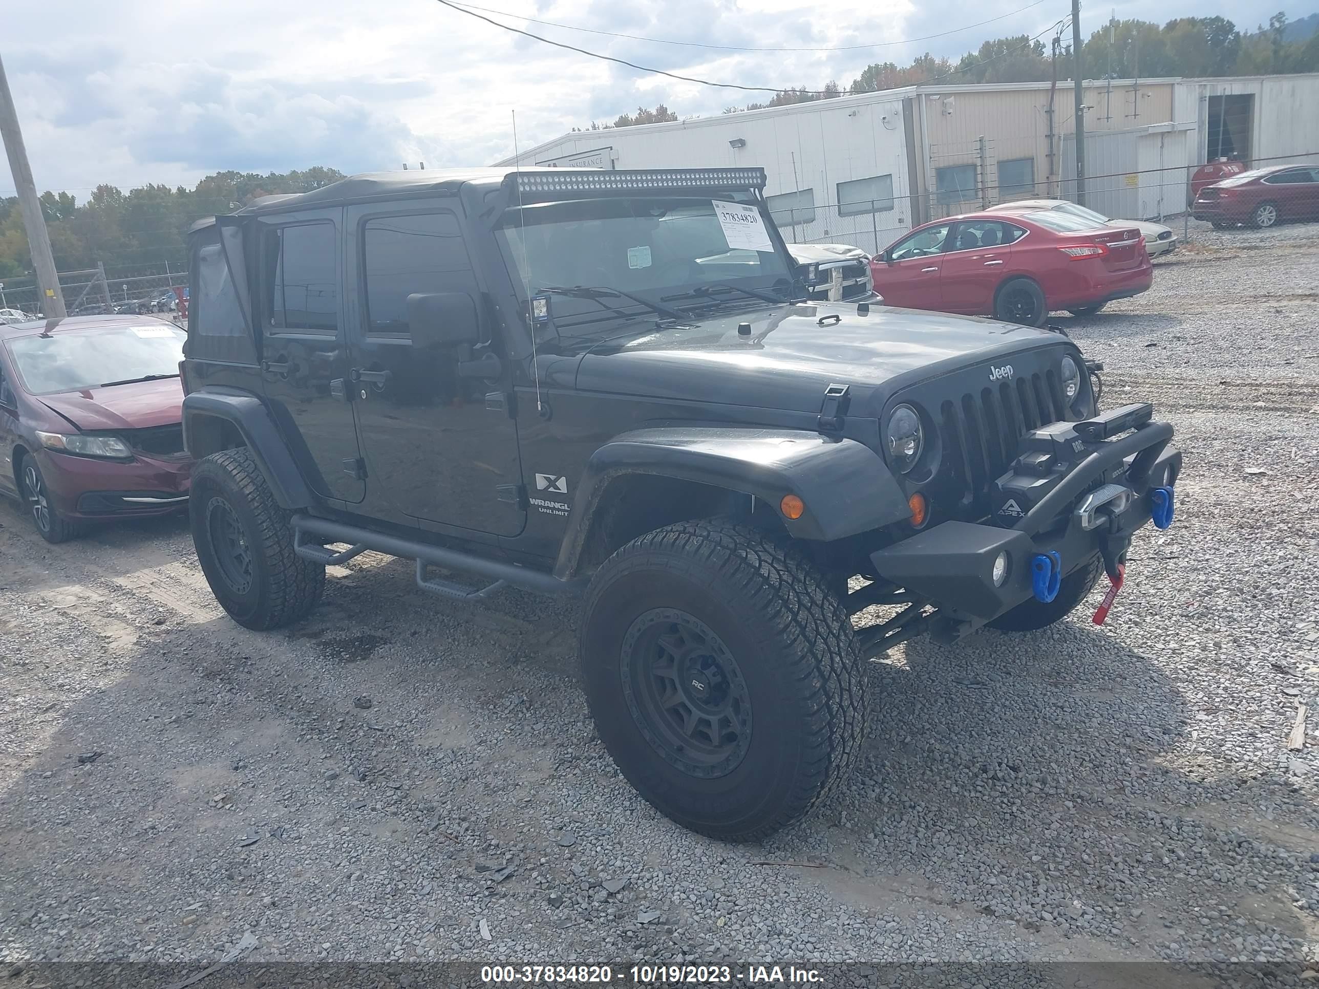
[[609,483],[654,475],[708,484],[762,498],[778,510],[785,494],[806,505],[801,518],[781,516],[798,539],[832,542],[910,518],[902,489],[884,460],[855,439],[806,430],[674,426],[624,433],[586,464],[576,483],[555,576],[576,576],[596,512]]

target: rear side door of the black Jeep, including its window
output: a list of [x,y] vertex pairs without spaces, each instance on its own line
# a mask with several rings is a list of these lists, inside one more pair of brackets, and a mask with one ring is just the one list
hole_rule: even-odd
[[342,207],[262,220],[257,310],[266,400],[303,477],[357,502],[367,487],[344,390],[342,224]]

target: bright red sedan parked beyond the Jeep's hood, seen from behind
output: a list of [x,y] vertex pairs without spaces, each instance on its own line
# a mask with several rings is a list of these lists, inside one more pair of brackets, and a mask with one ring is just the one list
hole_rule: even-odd
[[871,274],[889,306],[1026,326],[1043,326],[1059,309],[1092,315],[1154,281],[1138,229],[1053,210],[926,223],[877,255]]

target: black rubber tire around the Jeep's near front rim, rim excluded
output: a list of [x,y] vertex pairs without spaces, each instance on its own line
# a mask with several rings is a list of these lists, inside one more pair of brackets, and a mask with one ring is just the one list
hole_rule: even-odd
[[[629,709],[624,645],[656,609],[695,616],[743,674],[748,748],[716,778],[670,762]],[[617,550],[591,580],[579,644],[587,704],[623,775],[710,837],[758,841],[801,820],[847,778],[865,738],[868,667],[847,611],[786,539],[745,525],[679,522]]]

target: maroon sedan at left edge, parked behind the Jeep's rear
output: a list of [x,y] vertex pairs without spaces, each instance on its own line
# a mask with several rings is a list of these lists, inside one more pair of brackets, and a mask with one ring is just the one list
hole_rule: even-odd
[[187,508],[185,339],[149,316],[0,326],[0,493],[47,542]]

